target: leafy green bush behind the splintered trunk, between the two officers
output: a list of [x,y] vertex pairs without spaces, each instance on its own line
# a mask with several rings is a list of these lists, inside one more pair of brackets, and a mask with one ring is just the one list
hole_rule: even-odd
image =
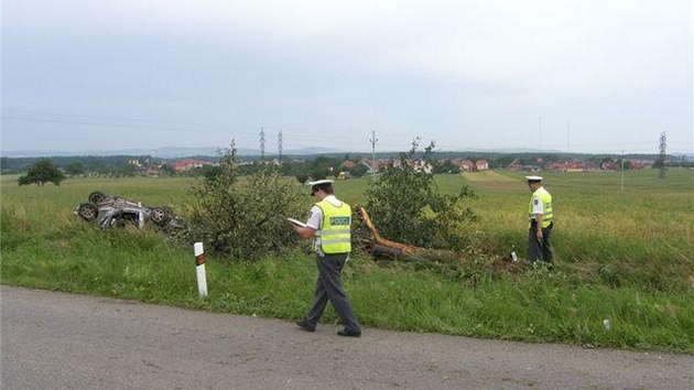
[[434,175],[426,173],[433,162],[434,143],[415,159],[419,139],[400,160],[390,160],[379,178],[366,191],[366,209],[381,235],[390,240],[423,248],[459,250],[464,240],[459,227],[476,218],[465,198],[476,198],[464,186],[457,195],[440,194]]

